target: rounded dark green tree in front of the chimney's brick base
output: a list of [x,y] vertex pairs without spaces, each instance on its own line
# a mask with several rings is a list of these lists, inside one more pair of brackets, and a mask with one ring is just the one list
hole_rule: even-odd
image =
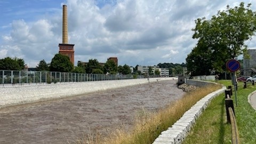
[[73,63],[67,55],[55,54],[50,64],[50,71],[70,72],[73,70]]

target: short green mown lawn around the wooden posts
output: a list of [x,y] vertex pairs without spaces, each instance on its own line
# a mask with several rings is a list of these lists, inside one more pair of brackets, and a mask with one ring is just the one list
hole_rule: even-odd
[[[231,85],[230,80],[219,81],[219,83]],[[237,106],[234,91],[231,98],[234,101],[240,142],[255,143],[256,111],[251,107],[247,97],[256,90],[256,85],[248,84],[247,89],[243,89],[243,83],[238,85]],[[231,127],[227,123],[225,94],[212,100],[183,143],[231,143]]]

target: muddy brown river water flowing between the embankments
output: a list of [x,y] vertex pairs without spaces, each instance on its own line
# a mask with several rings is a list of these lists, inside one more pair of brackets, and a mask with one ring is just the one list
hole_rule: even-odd
[[0,109],[0,143],[72,143],[90,133],[131,127],[140,111],[156,111],[185,93],[177,80]]

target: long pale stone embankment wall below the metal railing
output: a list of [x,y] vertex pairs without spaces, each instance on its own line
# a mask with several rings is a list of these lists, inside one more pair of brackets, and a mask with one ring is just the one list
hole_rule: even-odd
[[124,79],[76,83],[14,85],[0,87],[0,108],[50,99],[72,97],[86,93],[115,89],[131,85],[177,79],[173,77]]

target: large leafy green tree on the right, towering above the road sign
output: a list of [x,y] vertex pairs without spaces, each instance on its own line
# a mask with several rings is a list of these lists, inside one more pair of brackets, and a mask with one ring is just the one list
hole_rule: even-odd
[[[195,21],[196,27],[193,29],[193,38],[198,39],[197,46],[194,48],[197,50],[194,50],[191,55],[199,57],[195,58],[198,60],[202,58],[207,60],[207,64],[214,71],[225,71],[225,63],[228,59],[236,59],[246,51],[245,41],[251,39],[256,30],[255,17],[256,13],[251,10],[251,4],[244,7],[242,2],[234,8],[227,5],[225,11],[219,11],[210,20],[198,18]],[[205,51],[202,49],[206,50],[208,57],[203,55]],[[211,61],[211,58],[214,60]],[[191,56],[187,58],[187,60],[190,59]],[[190,68],[191,65],[206,66],[197,61],[187,61],[187,64]],[[190,68],[188,70],[191,70]]]

